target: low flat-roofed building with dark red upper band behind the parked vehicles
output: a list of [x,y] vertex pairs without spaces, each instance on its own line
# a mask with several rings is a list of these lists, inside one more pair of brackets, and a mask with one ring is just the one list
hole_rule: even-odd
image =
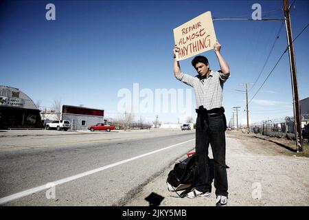
[[87,130],[90,125],[104,122],[104,110],[62,105],[61,119],[68,120],[72,130]]

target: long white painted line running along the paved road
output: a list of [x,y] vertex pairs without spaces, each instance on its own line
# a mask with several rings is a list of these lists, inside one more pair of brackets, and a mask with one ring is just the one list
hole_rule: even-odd
[[[87,172],[80,173],[80,174],[78,174],[78,175],[73,175],[73,176],[67,177],[67,178],[65,178],[65,179],[59,179],[59,180],[57,180],[57,181],[53,181],[52,184],[53,184],[54,186],[57,186],[57,185],[60,185],[60,184],[65,184],[65,183],[68,182],[68,181],[72,181],[72,180],[75,180],[75,179],[79,179],[79,178],[81,178],[81,177],[85,177],[85,176],[91,175],[91,174],[93,174],[93,173],[98,173],[98,172],[100,172],[100,171],[102,171],[102,170],[106,170],[106,169],[108,169],[108,168],[112,168],[112,167],[118,166],[118,165],[120,165],[120,164],[125,164],[125,163],[131,162],[131,161],[133,161],[133,160],[135,160],[135,159],[139,159],[139,158],[141,158],[141,157],[146,157],[146,156],[151,155],[151,154],[153,154],[153,153],[158,153],[158,152],[160,152],[160,151],[165,151],[165,150],[167,150],[168,148],[172,148],[172,147],[174,147],[174,146],[178,146],[178,145],[181,145],[181,144],[185,144],[185,143],[187,143],[187,142],[191,142],[192,140],[195,140],[195,138],[194,138],[194,139],[191,139],[191,140],[187,140],[187,141],[185,141],[185,142],[181,142],[181,143],[179,143],[179,144],[173,144],[173,145],[171,145],[171,146],[167,146],[167,147],[165,147],[165,148],[161,148],[161,149],[159,149],[159,150],[157,150],[157,151],[151,151],[151,152],[149,152],[149,153],[144,153],[144,154],[139,155],[139,156],[137,156],[137,157],[132,157],[132,158],[130,158],[130,159],[124,159],[124,160],[119,161],[119,162],[116,162],[116,163],[114,163],[114,164],[109,164],[109,165],[107,165],[107,166],[102,166],[102,167],[96,168],[96,169],[94,169],[94,170],[89,170],[89,171],[87,171]],[[48,184],[48,183],[47,183],[47,184]],[[36,192],[40,192],[40,191],[43,191],[43,190],[47,190],[47,189],[49,188],[49,187],[47,187],[47,184],[45,184],[45,185],[43,185],[43,186],[38,186],[38,187],[36,187],[36,188],[30,188],[29,190],[24,190],[24,191],[22,191],[22,192],[17,192],[17,193],[15,193],[15,194],[13,194],[13,195],[9,195],[8,197],[3,197],[3,198],[0,199],[0,204],[6,203],[6,202],[8,202],[8,201],[12,201],[12,200],[14,200],[14,199],[19,199],[19,198],[21,198],[21,197],[25,197],[25,196],[27,196],[27,195],[31,195],[31,194],[36,193]]]

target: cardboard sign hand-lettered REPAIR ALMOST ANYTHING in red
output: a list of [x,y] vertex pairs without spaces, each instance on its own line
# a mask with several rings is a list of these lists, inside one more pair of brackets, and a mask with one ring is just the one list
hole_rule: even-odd
[[175,44],[180,47],[177,61],[214,49],[216,33],[211,12],[205,12],[174,30]]

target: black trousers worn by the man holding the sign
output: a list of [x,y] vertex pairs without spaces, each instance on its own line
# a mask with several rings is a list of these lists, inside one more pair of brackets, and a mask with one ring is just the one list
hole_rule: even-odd
[[198,166],[198,181],[196,190],[211,192],[211,179],[209,178],[208,148],[214,156],[214,186],[216,195],[227,196],[227,168],[225,164],[225,115],[215,116],[198,113],[196,118],[196,162]]

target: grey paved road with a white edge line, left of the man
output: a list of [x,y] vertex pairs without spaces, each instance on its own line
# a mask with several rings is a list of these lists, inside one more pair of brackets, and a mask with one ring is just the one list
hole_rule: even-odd
[[194,131],[63,134],[0,137],[2,205],[122,205],[191,151],[195,137]]

